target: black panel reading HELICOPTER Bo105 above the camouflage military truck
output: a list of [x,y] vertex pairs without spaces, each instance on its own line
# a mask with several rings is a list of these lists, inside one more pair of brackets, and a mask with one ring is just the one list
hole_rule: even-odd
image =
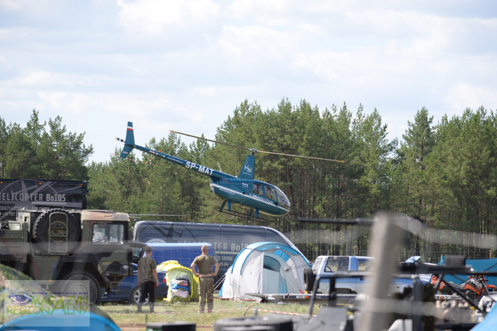
[[0,221],[15,219],[20,209],[85,209],[85,181],[0,179]]

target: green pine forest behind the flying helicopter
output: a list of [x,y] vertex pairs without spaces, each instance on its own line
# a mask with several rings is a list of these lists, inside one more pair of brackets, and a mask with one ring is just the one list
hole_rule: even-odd
[[[376,109],[368,113],[359,106],[352,111],[343,104],[323,110],[306,100],[291,104],[282,99],[262,110],[255,101],[243,101],[220,124],[216,136],[206,138],[343,161],[256,154],[255,178],[276,185],[290,199],[290,212],[274,222],[217,212],[223,201],[210,193],[207,177],[150,154],[135,150],[129,156],[134,161],[109,157],[88,163],[93,146],[85,145],[84,133],[67,132],[60,117],[47,125],[36,110],[24,126],[0,117],[0,178],[86,180],[88,208],[161,215],[140,219],[272,227],[309,260],[353,255],[354,249],[367,255],[370,230],[300,222],[299,217],[350,220],[371,218],[382,210],[417,218],[433,229],[432,234],[440,231],[413,234],[399,260],[418,255],[436,263],[447,254],[488,258],[492,252],[477,242],[497,235],[496,114],[480,107],[433,123],[423,107],[402,137],[389,141],[387,133]],[[186,145],[174,133],[143,144],[232,175],[240,172],[247,155],[201,139]]]

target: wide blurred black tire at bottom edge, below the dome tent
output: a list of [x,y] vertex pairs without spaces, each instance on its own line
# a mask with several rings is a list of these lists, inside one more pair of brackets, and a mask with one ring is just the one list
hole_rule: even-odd
[[[214,322],[214,331],[233,330],[233,327],[268,326],[274,331],[292,331],[293,322],[290,317],[263,315],[250,317],[235,317]],[[247,328],[250,330],[249,328]]]

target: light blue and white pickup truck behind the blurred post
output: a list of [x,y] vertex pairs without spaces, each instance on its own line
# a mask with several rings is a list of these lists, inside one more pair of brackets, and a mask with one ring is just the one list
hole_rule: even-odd
[[[365,256],[319,256],[312,268],[304,269],[304,289],[310,293],[313,290],[316,276],[330,276],[333,272],[370,271],[374,258]],[[424,281],[425,277],[422,277]],[[367,285],[367,279],[360,277],[340,277],[335,279],[336,293],[355,294],[363,293]],[[392,293],[402,293],[405,288],[413,287],[410,277],[398,277],[392,280]],[[328,294],[330,291],[330,280],[321,279],[317,292]]]

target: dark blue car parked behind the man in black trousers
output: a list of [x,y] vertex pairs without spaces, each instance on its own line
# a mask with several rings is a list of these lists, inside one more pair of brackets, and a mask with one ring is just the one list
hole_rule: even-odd
[[[159,286],[156,287],[156,300],[160,300],[167,297],[169,286],[166,282],[163,282],[164,277],[166,277],[166,271],[157,271],[157,276],[159,277]],[[100,302],[129,302],[136,305],[141,294],[142,291],[140,290],[140,285],[138,285],[138,270],[135,268],[133,275],[124,278],[112,293],[109,295],[102,294]],[[148,297],[145,299],[145,303],[147,302],[149,302]]]

